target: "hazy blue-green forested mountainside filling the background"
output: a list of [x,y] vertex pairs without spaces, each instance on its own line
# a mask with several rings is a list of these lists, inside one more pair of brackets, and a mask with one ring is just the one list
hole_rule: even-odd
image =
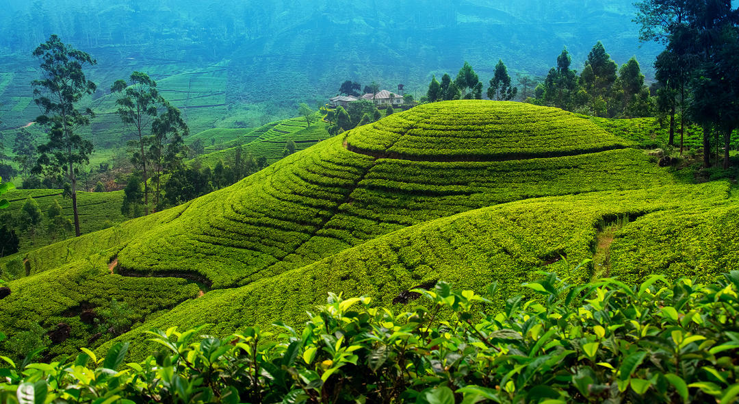
[[[619,63],[636,55],[650,77],[657,47],[635,45],[630,0],[542,4],[0,1],[9,10],[0,16],[1,129],[38,115],[29,102],[37,65],[30,52],[52,33],[95,56],[90,77],[99,84],[139,70],[183,95],[173,102],[190,107],[192,132],[287,118],[299,102],[313,106],[335,95],[345,79],[387,89],[403,83],[418,98],[433,74],[462,60],[483,77],[493,75],[498,58],[513,73],[545,75],[563,46],[579,68],[598,40]],[[91,131],[107,129],[98,123]]]

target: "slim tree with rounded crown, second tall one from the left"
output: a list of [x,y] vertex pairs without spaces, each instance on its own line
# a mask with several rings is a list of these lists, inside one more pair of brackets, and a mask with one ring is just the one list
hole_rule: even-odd
[[146,137],[151,135],[151,123],[157,117],[159,109],[164,105],[164,98],[159,95],[157,82],[149,75],[134,72],[129,77],[129,82],[118,80],[110,87],[111,92],[118,92],[120,96],[115,104],[118,105],[118,116],[123,124],[132,129],[137,139],[132,146],[132,162],[140,166],[143,173],[143,200],[144,214],[149,211],[149,185],[146,166]]

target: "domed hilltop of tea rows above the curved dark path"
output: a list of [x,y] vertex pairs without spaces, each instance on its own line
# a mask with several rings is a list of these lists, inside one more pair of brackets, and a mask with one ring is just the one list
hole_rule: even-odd
[[368,152],[440,161],[555,157],[630,145],[562,110],[491,101],[415,107],[358,128],[347,141]]

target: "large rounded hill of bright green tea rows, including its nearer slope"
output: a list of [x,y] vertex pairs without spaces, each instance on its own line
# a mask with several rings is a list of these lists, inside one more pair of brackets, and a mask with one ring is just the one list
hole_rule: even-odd
[[[678,268],[704,277],[733,269],[737,246],[726,240],[738,206],[728,198],[729,185],[678,184],[631,145],[551,108],[423,105],[322,141],[183,206],[31,252],[28,272],[40,281],[60,276],[60,266],[109,266],[112,276],[181,277],[205,292],[141,318],[143,328],[123,336],[138,338],[164,324],[218,323],[211,329],[218,334],[274,320],[298,325],[328,290],[370,294],[387,306],[403,303],[410,287],[438,279],[478,291],[498,280],[507,294],[537,269],[571,270],[560,255],[579,262],[599,249],[607,249],[611,273],[635,281]],[[695,220],[675,221],[661,229],[664,238],[647,238],[654,232],[649,223],[658,223],[653,218],[679,215]],[[600,230],[610,222],[621,227],[612,243],[601,243]],[[630,244],[635,237],[643,241]],[[705,240],[700,249],[690,241],[698,237]],[[687,244],[718,252],[650,259],[652,249],[679,251],[671,238],[685,252]],[[585,266],[571,275],[607,274]],[[43,293],[60,293],[52,285]],[[24,308],[20,296],[42,293],[24,288],[10,283],[11,297],[19,296],[12,310],[8,298],[0,300],[0,331],[23,330],[10,320]],[[30,318],[44,326],[55,321]]]

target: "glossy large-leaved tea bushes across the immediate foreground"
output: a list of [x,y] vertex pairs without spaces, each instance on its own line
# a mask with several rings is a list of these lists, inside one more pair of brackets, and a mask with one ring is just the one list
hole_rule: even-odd
[[[699,285],[653,276],[525,284],[499,314],[438,283],[429,307],[393,314],[342,299],[298,332],[225,339],[154,330],[162,346],[124,364],[129,343],[0,368],[2,403],[733,403],[739,394],[739,272]],[[494,292],[495,285],[491,285]]]

